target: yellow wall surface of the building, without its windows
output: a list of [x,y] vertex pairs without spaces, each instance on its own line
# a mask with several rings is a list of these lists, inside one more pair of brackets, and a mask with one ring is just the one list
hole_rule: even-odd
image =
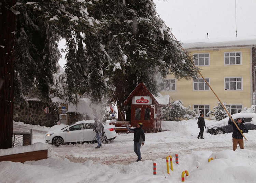
[[[210,86],[222,102],[226,104],[242,104],[243,107],[251,107],[251,48],[234,47],[212,49],[188,50],[194,53],[210,53],[210,66],[200,66],[200,72],[204,78],[210,78]],[[215,48],[216,49],[216,48]],[[224,52],[241,51],[242,65],[224,65]],[[225,77],[242,77],[242,90],[225,91]],[[199,78],[201,78],[199,76]],[[167,79],[174,79],[174,76],[168,75]],[[210,89],[210,88],[209,88]],[[210,90],[193,91],[193,80],[176,80],[175,91],[162,91],[162,95],[170,95],[170,100],[181,100],[184,106],[191,105],[210,105],[210,110],[217,105],[218,99]]]

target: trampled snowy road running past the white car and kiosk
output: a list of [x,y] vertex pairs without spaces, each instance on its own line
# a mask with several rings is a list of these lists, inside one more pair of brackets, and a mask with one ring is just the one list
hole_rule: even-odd
[[[223,135],[211,135],[204,133],[205,139],[197,139],[199,130],[195,122],[176,122],[175,128],[160,133],[145,134],[145,145],[141,148],[142,160],[165,159],[167,155],[175,157],[175,154],[189,154],[194,151],[219,152],[232,149],[232,133]],[[14,122],[14,131],[30,131],[33,129],[33,143],[44,143],[44,135],[49,128]],[[174,130],[175,129],[175,130]],[[245,134],[245,149],[256,150],[256,130]],[[45,143],[46,144],[46,143]],[[123,164],[134,162],[137,157],[133,152],[133,134],[119,133],[109,144],[103,144],[102,148],[95,149],[96,144],[75,144],[55,147],[46,144],[48,156],[57,156],[68,159],[71,162],[83,163],[93,160],[100,164]],[[239,148],[239,147],[238,147]]]

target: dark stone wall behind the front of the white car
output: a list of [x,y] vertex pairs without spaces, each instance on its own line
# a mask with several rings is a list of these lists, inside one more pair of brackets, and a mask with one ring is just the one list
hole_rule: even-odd
[[[49,107],[49,114],[44,112],[47,106]],[[30,100],[28,105],[22,104],[19,107],[15,107],[14,114],[14,121],[52,127],[58,121],[58,104],[47,105],[41,101]]]

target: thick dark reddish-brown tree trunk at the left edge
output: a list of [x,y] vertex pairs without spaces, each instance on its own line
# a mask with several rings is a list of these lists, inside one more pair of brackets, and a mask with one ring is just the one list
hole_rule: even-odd
[[0,0],[0,149],[12,147],[15,0]]

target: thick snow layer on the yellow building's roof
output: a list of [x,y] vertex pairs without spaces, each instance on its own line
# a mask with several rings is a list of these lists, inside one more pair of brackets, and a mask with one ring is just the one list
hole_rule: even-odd
[[239,46],[255,46],[256,35],[237,38],[214,38],[203,40],[187,40],[182,43],[184,49],[195,48],[212,48],[212,47],[239,47]]

